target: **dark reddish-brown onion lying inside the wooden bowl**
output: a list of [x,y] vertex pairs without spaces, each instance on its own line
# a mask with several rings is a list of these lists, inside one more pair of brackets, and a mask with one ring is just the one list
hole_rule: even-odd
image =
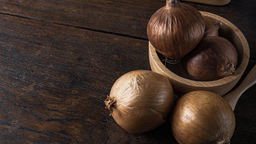
[[235,72],[235,47],[223,37],[204,37],[189,54],[187,70],[196,81],[214,81]]

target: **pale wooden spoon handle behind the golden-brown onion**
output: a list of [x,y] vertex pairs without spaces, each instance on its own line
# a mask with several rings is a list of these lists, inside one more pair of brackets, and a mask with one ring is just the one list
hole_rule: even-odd
[[223,98],[229,103],[233,111],[235,109],[235,105],[238,99],[241,97],[244,91],[246,91],[248,88],[253,86],[255,83],[256,83],[256,65],[254,65],[254,67],[251,69],[249,74],[242,81],[240,86],[238,86],[234,91],[223,96]]

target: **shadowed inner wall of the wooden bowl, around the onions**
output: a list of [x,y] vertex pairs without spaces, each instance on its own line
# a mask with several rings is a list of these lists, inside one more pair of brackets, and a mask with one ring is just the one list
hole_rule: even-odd
[[[213,17],[209,17],[210,19],[216,20]],[[219,20],[220,21],[220,20]],[[220,37],[224,37],[226,39],[228,39],[233,46],[235,47],[235,49],[237,50],[237,55],[238,55],[238,63],[236,66],[236,69],[240,66],[240,64],[242,63],[243,57],[244,57],[244,49],[243,49],[243,45],[242,42],[239,38],[239,36],[237,35],[237,33],[235,32],[235,30],[233,30],[232,28],[230,28],[230,26],[228,26],[226,23],[222,22],[222,26],[219,28],[219,36]],[[163,65],[165,65],[165,67],[167,67],[171,72],[177,74],[180,77],[183,77],[185,79],[190,79],[193,80],[187,70],[186,70],[186,61],[187,61],[187,56],[185,56],[179,63],[175,63],[175,64],[170,64],[168,62],[166,62],[165,57],[163,55],[161,55],[161,53],[158,53],[156,51],[159,59],[162,61]]]

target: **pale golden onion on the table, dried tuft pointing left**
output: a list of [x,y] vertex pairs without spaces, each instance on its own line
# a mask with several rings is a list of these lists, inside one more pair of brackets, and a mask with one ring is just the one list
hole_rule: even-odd
[[166,77],[136,70],[117,79],[105,104],[121,128],[142,133],[165,122],[173,101],[172,85]]

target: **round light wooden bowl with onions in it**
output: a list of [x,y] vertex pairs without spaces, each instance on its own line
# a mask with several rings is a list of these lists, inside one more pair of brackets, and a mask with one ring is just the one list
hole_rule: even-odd
[[151,70],[166,76],[170,80],[175,93],[184,94],[191,91],[205,90],[212,91],[222,96],[230,91],[242,77],[249,62],[249,46],[242,32],[230,21],[208,12],[200,13],[202,16],[207,16],[210,19],[222,22],[222,26],[219,29],[219,36],[228,39],[235,46],[238,54],[235,74],[216,81],[193,81],[186,70],[186,58],[176,64],[166,63],[165,66],[165,63],[162,62],[163,56],[156,52],[149,42],[149,62]]

